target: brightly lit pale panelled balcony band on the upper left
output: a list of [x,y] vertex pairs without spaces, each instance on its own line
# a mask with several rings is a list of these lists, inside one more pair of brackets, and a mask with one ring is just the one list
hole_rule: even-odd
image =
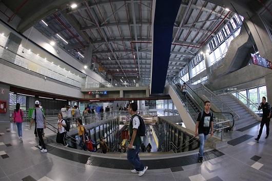
[[[32,46],[35,49],[39,48],[35,45]],[[3,60],[75,87],[81,87],[81,84],[85,82],[82,77],[77,76],[81,74],[80,72],[77,72],[72,67],[70,70],[65,70],[56,65],[57,62],[60,62],[59,59],[43,50],[41,50],[41,53],[47,58],[27,50],[25,47],[0,34],[0,57]]]

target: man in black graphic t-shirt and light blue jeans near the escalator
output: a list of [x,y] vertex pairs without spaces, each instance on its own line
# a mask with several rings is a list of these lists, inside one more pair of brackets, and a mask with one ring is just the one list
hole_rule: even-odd
[[209,131],[210,131],[210,136],[212,136],[213,135],[212,113],[210,112],[210,102],[206,100],[203,115],[201,116],[201,113],[199,113],[198,115],[197,124],[196,124],[196,132],[195,132],[196,136],[199,135],[199,140],[200,140],[199,162],[203,162],[204,144],[208,138]]

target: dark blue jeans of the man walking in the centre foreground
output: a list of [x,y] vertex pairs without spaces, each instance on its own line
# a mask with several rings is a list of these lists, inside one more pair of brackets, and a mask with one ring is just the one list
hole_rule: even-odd
[[134,166],[135,170],[137,171],[142,171],[145,168],[145,166],[140,162],[139,157],[140,147],[141,146],[135,146],[135,149],[127,150],[127,160]]

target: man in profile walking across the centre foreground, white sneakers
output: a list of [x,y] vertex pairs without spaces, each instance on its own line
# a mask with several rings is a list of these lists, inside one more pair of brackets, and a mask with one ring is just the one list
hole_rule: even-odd
[[[128,113],[131,115],[129,120],[129,136],[130,143],[128,144],[127,159],[134,166],[132,173],[139,173],[142,176],[148,167],[140,162],[139,150],[141,148],[141,136],[137,134],[140,127],[140,116],[137,114],[138,106],[136,103],[130,103],[128,106]],[[143,125],[144,126],[144,125]],[[144,126],[145,127],[145,126]]]

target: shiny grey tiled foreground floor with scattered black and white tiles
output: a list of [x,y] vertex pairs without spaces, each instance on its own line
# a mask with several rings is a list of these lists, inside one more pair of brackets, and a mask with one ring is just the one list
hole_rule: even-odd
[[[4,180],[272,180],[272,136],[259,143],[254,138],[259,125],[244,131],[225,133],[231,144],[206,150],[203,163],[197,151],[184,155],[140,155],[150,169],[139,177],[131,173],[126,155],[92,154],[47,144],[47,153],[37,148],[34,130],[23,124],[23,143],[17,128],[0,123],[0,181]],[[45,130],[45,137],[52,134]],[[237,138],[237,139],[236,139]],[[151,138],[152,139],[152,138]],[[155,149],[156,146],[154,145]],[[153,146],[152,146],[153,148]],[[220,154],[219,154],[220,153]],[[219,154],[219,155],[218,155]]]

